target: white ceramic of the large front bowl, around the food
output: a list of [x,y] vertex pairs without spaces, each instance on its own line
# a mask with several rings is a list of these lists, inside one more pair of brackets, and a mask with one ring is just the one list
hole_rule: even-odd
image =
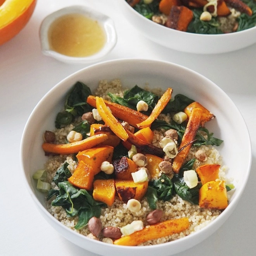
[[[45,209],[44,195],[35,189],[35,181],[32,178],[33,173],[41,169],[47,161],[41,147],[42,134],[45,130],[54,129],[55,116],[57,112],[61,111],[67,92],[76,81],[84,82],[93,90],[99,80],[115,78],[120,78],[123,85],[128,87],[144,86],[145,84],[152,88],[172,87],[174,94],[183,93],[199,101],[216,115],[216,118],[210,121],[207,127],[214,132],[215,137],[224,140],[219,150],[225,164],[230,168],[227,176],[234,178],[235,191],[227,209],[202,230],[185,238],[156,246],[114,246],[88,239],[74,232],[57,221]],[[40,100],[24,128],[21,141],[21,165],[28,191],[40,213],[49,222],[49,225],[74,244],[101,255],[113,255],[114,249],[115,255],[122,256],[167,256],[184,251],[206,239],[234,211],[249,176],[251,143],[247,126],[235,104],[223,90],[204,76],[169,62],[124,59],[86,67],[62,80]]]

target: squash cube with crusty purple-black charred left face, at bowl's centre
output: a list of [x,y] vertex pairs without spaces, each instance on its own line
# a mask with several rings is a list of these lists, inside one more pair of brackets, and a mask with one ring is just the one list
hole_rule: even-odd
[[137,171],[138,166],[128,157],[113,161],[115,178],[118,180],[132,180],[131,173]]

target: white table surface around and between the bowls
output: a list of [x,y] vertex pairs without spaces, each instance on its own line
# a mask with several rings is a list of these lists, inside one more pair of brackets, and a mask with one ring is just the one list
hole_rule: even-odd
[[40,215],[23,183],[19,159],[22,131],[36,103],[56,83],[86,66],[64,64],[40,52],[38,31],[43,18],[73,4],[88,5],[114,20],[118,42],[102,61],[147,58],[181,64],[212,80],[234,100],[252,140],[253,163],[247,187],[234,213],[221,228],[202,243],[176,256],[256,255],[256,44],[217,55],[170,50],[135,31],[114,7],[117,1],[38,0],[26,27],[0,46],[0,255],[96,256],[64,239]]

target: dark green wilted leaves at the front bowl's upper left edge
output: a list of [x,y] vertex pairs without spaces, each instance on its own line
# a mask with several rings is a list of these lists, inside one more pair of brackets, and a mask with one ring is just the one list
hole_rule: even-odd
[[76,82],[67,95],[64,105],[65,111],[59,112],[55,120],[55,127],[68,125],[74,117],[82,116],[85,112],[91,111],[92,107],[86,103],[87,97],[91,95],[90,88],[81,82]]

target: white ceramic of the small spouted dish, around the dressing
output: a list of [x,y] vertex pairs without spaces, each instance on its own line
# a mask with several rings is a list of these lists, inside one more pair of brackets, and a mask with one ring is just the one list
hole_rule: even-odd
[[[60,54],[50,49],[50,45],[48,42],[48,29],[50,28],[50,25],[52,24],[52,22],[55,21],[55,19],[66,14],[73,14],[73,13],[84,14],[87,17],[97,20],[100,26],[102,26],[102,29],[104,29],[106,33],[106,43],[99,52],[86,57],[72,57],[72,56]],[[71,5],[68,7],[64,7],[60,10],[57,10],[55,12],[52,12],[51,14],[49,14],[47,17],[43,19],[40,26],[40,41],[41,41],[41,48],[42,48],[43,54],[54,57],[55,59],[58,59],[59,61],[62,61],[62,62],[79,64],[79,63],[90,63],[90,62],[102,59],[102,57],[108,54],[112,50],[112,48],[114,48],[114,46],[116,45],[117,34],[114,26],[114,21],[107,15],[102,14],[97,10],[94,10],[84,5]]]

